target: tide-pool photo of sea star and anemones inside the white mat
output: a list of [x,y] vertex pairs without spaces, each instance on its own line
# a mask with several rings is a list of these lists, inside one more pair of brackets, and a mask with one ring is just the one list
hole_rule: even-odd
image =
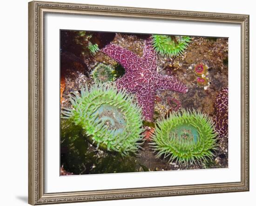
[[60,175],[228,168],[228,38],[60,31]]

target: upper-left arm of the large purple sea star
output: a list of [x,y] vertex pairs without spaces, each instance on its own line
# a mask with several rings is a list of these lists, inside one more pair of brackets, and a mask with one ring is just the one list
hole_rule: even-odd
[[134,64],[139,60],[135,53],[114,44],[108,44],[101,49],[101,52],[119,62],[121,66],[124,67],[125,71],[134,70]]

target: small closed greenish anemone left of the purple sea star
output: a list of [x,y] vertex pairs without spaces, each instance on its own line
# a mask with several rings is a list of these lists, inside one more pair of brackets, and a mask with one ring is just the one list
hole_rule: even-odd
[[94,82],[108,82],[108,81],[114,81],[115,80],[115,74],[114,69],[112,66],[108,66],[103,63],[97,64],[92,73],[91,76],[94,80]]

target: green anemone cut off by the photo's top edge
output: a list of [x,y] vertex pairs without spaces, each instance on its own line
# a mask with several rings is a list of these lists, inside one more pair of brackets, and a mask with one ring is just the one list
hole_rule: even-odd
[[178,56],[188,47],[191,38],[189,36],[152,35],[152,44],[161,56]]

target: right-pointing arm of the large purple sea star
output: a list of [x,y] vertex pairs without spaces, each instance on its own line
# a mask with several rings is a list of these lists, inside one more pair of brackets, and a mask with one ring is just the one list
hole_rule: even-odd
[[173,90],[179,93],[187,93],[188,88],[181,82],[179,82],[174,76],[162,76],[157,75],[155,78],[157,90]]

